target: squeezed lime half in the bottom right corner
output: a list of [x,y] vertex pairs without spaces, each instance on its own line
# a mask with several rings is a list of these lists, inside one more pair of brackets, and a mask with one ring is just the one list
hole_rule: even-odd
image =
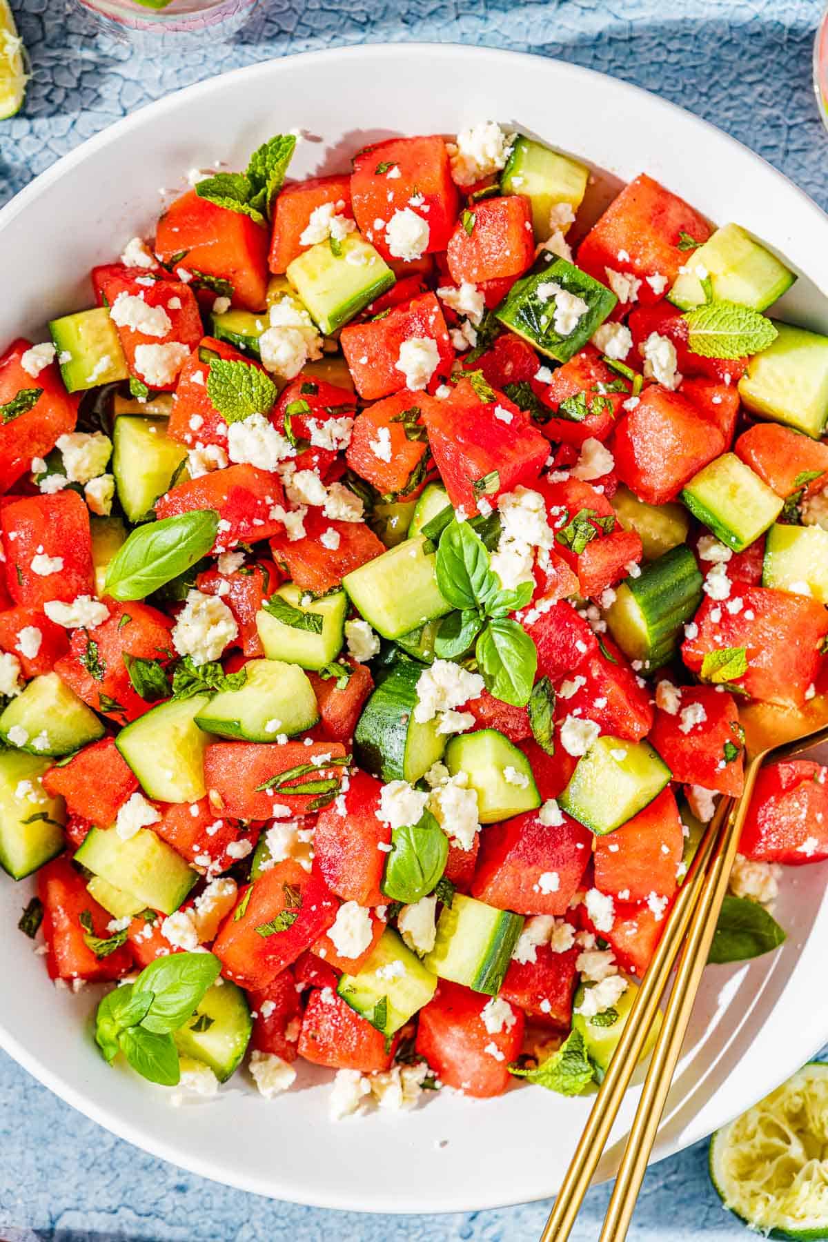
[[771,1238],[828,1238],[828,1064],[812,1062],[710,1140],[725,1207]]

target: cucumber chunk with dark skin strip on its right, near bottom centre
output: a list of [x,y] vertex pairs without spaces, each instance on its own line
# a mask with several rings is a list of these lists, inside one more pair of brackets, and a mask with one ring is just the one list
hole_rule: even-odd
[[437,920],[434,948],[423,965],[441,979],[497,996],[523,927],[521,914],[454,893]]

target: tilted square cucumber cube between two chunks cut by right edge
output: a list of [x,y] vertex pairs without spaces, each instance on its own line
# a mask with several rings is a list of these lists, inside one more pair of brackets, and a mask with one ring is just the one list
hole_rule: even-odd
[[735,453],[724,453],[682,488],[690,513],[716,539],[744,551],[777,519],[783,501]]

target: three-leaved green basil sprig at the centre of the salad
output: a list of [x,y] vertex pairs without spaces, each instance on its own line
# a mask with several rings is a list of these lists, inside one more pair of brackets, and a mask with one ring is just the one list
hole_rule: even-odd
[[434,642],[441,660],[458,658],[475,642],[474,656],[487,689],[504,703],[529,702],[538,651],[509,614],[529,604],[534,584],[504,590],[489,553],[468,522],[449,522],[437,548],[437,585],[458,612],[442,622]]

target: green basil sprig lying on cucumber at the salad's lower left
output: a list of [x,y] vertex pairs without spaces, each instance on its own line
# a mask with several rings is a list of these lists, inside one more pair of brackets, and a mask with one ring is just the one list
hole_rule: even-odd
[[211,953],[156,958],[134,984],[115,987],[98,1005],[94,1038],[109,1062],[123,1052],[144,1078],[161,1087],[180,1079],[173,1033],[182,1027],[211,987],[221,963]]

